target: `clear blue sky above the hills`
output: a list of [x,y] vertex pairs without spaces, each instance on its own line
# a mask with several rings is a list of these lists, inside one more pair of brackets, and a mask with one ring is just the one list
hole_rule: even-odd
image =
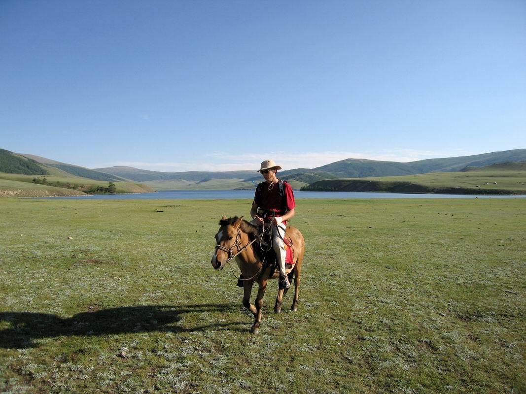
[[170,172],[526,148],[526,2],[2,0],[0,148]]

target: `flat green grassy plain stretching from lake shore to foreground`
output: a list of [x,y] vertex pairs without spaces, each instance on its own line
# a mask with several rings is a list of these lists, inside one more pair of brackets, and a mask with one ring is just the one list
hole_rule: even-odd
[[0,199],[0,391],[526,392],[526,200],[297,203],[254,336],[209,262],[248,200]]

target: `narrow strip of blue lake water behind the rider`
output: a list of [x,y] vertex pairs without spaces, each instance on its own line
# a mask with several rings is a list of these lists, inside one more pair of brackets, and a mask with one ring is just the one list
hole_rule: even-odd
[[[382,193],[382,192],[302,192],[294,191],[296,199],[474,199],[470,194],[404,194],[404,193]],[[478,198],[522,198],[526,195],[477,195]],[[95,194],[76,195],[67,197],[41,197],[45,199],[63,200],[151,200],[151,199],[175,199],[175,200],[231,200],[252,199],[254,190],[163,190],[154,193],[130,193],[130,194]]]

